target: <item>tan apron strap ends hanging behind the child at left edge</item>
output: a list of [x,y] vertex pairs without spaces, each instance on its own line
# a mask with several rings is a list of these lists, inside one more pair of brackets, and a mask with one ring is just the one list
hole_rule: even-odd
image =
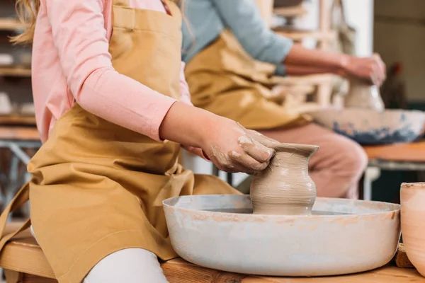
[[4,245],[9,241],[11,238],[16,236],[18,233],[21,233],[22,231],[28,229],[31,226],[31,221],[28,219],[21,228],[19,228],[17,231],[10,233],[6,236],[4,236],[4,229],[6,228],[8,215],[13,212],[15,209],[18,209],[23,204],[28,202],[30,199],[30,183],[26,183],[21,187],[21,190],[18,191],[18,193],[13,197],[13,200],[7,205],[6,209],[4,209],[4,212],[1,213],[0,216],[0,250],[3,249]]

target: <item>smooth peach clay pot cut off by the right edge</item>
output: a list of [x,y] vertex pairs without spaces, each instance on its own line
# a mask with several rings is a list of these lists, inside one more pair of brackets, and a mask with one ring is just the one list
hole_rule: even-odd
[[425,183],[402,183],[402,237],[407,257],[425,277]]

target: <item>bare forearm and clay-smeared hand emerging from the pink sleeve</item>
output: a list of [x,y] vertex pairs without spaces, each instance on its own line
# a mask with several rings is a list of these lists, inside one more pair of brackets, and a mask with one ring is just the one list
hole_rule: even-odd
[[167,112],[159,137],[203,149],[217,168],[232,173],[264,170],[275,154],[271,146],[277,143],[233,120],[180,102]]

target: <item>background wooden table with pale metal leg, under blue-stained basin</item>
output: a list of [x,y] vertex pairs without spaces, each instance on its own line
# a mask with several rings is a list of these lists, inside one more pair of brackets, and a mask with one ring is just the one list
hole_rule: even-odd
[[368,154],[368,170],[363,182],[363,199],[372,199],[372,183],[381,170],[425,171],[425,141],[385,146],[364,146]]

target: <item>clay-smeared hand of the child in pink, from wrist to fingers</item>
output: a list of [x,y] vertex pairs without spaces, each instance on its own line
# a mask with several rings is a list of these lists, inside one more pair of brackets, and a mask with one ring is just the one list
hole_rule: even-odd
[[275,141],[227,118],[220,117],[206,132],[203,151],[222,171],[253,174],[264,170],[275,154],[267,146]]

